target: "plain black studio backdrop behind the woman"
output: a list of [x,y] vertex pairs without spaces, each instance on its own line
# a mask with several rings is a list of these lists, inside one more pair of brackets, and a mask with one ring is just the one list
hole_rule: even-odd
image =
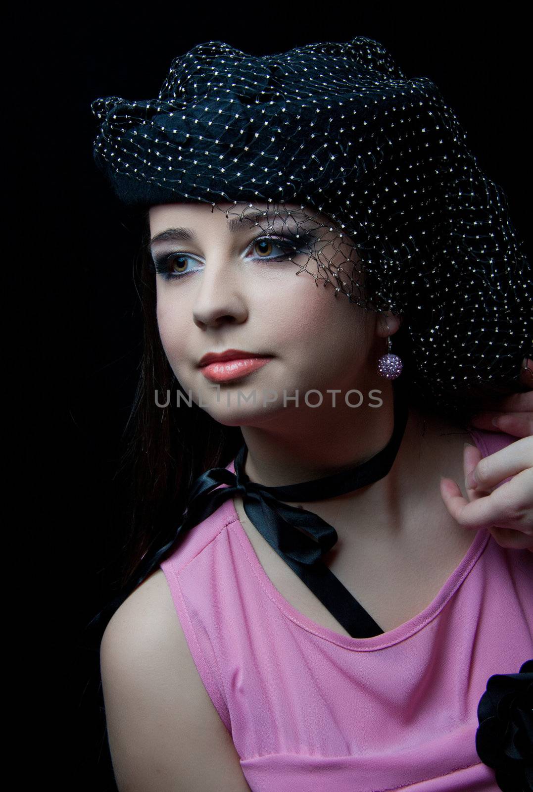
[[[172,59],[208,40],[264,55],[375,38],[405,74],[440,87],[482,169],[507,193],[531,255],[529,27],[518,3],[503,8],[152,4],[126,14],[126,4],[92,4],[75,17],[74,8],[48,8],[14,20],[16,57],[5,78],[16,101],[6,117],[21,144],[10,201],[20,230],[8,229],[17,283],[6,308],[20,345],[13,391],[29,398],[20,420],[6,413],[21,463],[6,535],[15,539],[14,599],[27,601],[13,630],[29,661],[16,697],[29,756],[22,778],[36,771],[55,790],[116,789],[97,651],[83,628],[109,597],[127,529],[116,469],[142,337],[132,276],[139,239],[93,165],[90,102],[156,97]],[[38,748],[42,760],[31,761]]]

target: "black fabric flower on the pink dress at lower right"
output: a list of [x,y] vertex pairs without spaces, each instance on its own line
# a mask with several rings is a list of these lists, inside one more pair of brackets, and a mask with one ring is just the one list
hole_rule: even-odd
[[476,751],[503,792],[533,790],[533,660],[489,676],[478,704]]

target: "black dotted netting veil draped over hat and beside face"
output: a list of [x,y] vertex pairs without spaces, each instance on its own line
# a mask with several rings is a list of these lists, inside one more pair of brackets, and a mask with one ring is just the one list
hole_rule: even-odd
[[156,99],[91,107],[123,204],[211,204],[336,299],[402,314],[409,378],[445,411],[520,390],[533,290],[508,200],[440,90],[382,44],[256,56],[209,41],[173,60]]

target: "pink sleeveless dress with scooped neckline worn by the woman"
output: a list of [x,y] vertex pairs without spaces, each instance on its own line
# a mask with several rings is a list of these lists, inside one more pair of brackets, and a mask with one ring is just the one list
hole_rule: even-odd
[[[516,440],[469,431],[483,456]],[[477,531],[428,607],[372,638],[295,610],[231,499],[161,568],[253,792],[498,792],[475,750],[477,708],[489,676],[533,657],[529,551]]]

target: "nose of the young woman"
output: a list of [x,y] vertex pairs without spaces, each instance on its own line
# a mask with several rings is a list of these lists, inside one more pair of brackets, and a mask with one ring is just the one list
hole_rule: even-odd
[[207,258],[197,277],[197,291],[192,307],[196,326],[218,327],[224,323],[239,324],[248,315],[242,281],[236,272],[239,262],[229,261],[221,254]]

